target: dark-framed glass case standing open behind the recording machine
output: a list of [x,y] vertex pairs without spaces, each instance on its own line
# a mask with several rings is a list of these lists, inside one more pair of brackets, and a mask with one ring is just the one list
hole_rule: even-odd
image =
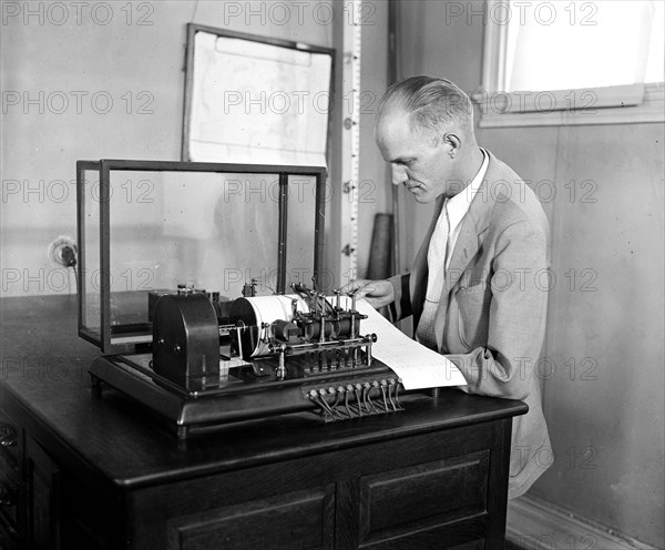
[[152,340],[151,302],[178,286],[221,302],[323,276],[318,166],[76,163],[79,334],[103,353]]

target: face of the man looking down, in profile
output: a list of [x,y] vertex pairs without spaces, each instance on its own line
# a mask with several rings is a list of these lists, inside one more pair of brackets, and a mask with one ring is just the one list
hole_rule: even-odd
[[[390,163],[392,183],[403,184],[419,203],[429,203],[453,187],[453,160],[446,140],[411,132],[409,116],[402,110],[381,113],[375,134],[377,146]],[[459,187],[459,185],[458,185]],[[459,189],[458,189],[459,191]]]

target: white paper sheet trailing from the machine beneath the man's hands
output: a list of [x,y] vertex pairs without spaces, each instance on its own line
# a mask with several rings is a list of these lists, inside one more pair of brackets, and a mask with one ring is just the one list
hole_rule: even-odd
[[376,334],[371,355],[388,365],[401,379],[406,389],[464,386],[462,373],[443,355],[418,344],[392,326],[367,301],[356,304],[367,319],[360,322],[361,334]]

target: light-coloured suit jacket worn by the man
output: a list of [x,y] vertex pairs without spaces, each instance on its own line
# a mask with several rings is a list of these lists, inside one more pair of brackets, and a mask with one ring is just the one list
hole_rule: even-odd
[[[410,274],[392,277],[396,319],[422,313],[427,253],[443,201]],[[551,465],[539,361],[549,286],[549,225],[535,194],[490,153],[485,177],[462,218],[434,319],[438,350],[462,371],[469,394],[520,399],[513,419],[509,498],[525,492]]]

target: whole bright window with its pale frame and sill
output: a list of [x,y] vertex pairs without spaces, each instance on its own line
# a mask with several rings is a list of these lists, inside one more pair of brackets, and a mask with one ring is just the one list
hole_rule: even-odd
[[481,126],[663,122],[664,2],[487,3]]

